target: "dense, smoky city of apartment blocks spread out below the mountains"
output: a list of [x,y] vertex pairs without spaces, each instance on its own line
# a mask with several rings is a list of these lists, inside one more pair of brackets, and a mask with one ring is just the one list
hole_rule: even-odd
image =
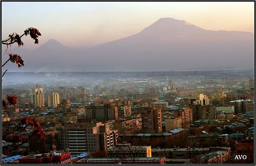
[[[253,70],[6,73],[2,96],[18,103],[2,109],[2,163],[236,163],[235,155],[252,163],[253,77]],[[46,137],[31,126],[16,130],[24,117]]]

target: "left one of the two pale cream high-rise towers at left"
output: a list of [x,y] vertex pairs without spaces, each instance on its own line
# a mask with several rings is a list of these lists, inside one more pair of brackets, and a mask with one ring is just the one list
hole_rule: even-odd
[[35,107],[44,107],[43,88],[31,89],[31,102]]

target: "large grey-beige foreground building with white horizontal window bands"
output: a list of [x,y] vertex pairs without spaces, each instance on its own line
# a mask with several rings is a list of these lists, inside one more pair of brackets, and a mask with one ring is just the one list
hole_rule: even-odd
[[72,156],[81,153],[106,151],[117,143],[117,130],[110,130],[109,124],[68,123],[61,128],[62,149],[69,148]]

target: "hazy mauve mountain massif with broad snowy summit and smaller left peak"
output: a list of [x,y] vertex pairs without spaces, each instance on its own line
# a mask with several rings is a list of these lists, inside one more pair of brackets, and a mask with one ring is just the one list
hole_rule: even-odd
[[206,30],[185,20],[161,18],[137,34],[90,49],[64,47],[51,39],[23,57],[24,71],[253,68],[254,34]]

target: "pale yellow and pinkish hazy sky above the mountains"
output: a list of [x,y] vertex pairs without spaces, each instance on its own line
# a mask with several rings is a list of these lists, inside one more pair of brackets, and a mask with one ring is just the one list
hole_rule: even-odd
[[163,17],[208,30],[254,32],[254,2],[2,2],[1,14],[2,40],[39,29],[39,45],[27,37],[25,49],[49,39],[88,48],[138,33]]

